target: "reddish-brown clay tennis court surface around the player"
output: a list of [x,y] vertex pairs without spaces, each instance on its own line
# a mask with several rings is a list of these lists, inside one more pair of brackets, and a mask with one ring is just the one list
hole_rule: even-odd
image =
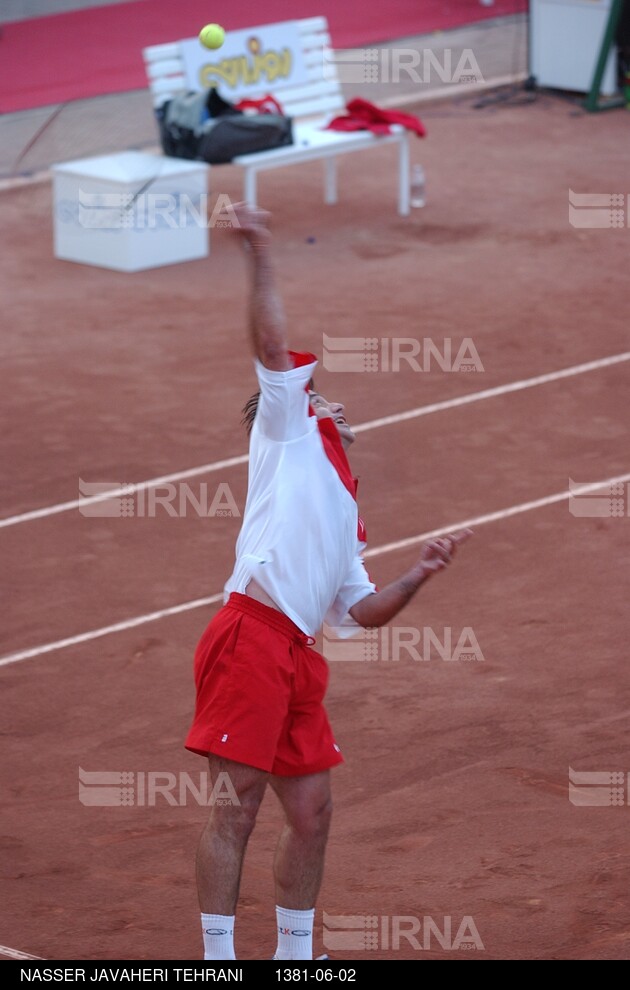
[[[468,337],[483,364],[318,372],[361,426],[351,464],[379,585],[422,534],[472,521],[396,626],[449,628],[453,643],[470,629],[479,653],[331,662],[345,763],[315,944],[346,959],[627,959],[630,231],[568,219],[570,189],[630,193],[627,114],[545,94],[416,110],[428,202],[410,217],[389,148],[340,162],[335,207],[316,163],[260,188],[295,349],[321,356],[324,333]],[[230,166],[213,183],[240,198]],[[206,260],[114,273],[53,258],[49,183],[4,191],[2,208],[1,941],[50,960],[198,959],[206,809],[190,793],[141,804],[138,781],[205,771],[183,748],[192,656],[240,519],[88,517],[76,500],[79,479],[175,475],[210,499],[229,486],[242,511],[255,384],[242,252],[216,230]],[[572,514],[569,479],[606,497],[613,478],[622,515]],[[130,774],[134,803],[82,804],[79,768]],[[618,803],[588,806],[588,791],[578,806],[569,768],[619,773]],[[279,823],[269,795],[242,959],[273,951]],[[324,912],[378,917],[376,946],[335,951]],[[423,941],[426,919],[442,932],[451,919],[453,942],[472,919],[483,948]]]

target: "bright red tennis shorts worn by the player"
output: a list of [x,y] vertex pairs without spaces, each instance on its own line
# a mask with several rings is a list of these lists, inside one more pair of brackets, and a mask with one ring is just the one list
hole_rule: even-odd
[[282,777],[343,763],[323,706],[328,664],[277,609],[232,593],[195,652],[185,747]]

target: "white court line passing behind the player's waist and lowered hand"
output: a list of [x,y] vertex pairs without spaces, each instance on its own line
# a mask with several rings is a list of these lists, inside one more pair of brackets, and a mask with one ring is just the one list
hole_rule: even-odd
[[[440,533],[450,533],[466,527],[482,526],[485,523],[496,522],[499,519],[509,519],[521,512],[531,512],[532,509],[540,509],[545,505],[553,505],[554,502],[563,502],[576,495],[586,495],[588,492],[597,491],[609,485],[619,484],[623,481],[630,481],[629,474],[620,474],[615,478],[606,478],[604,481],[594,481],[587,485],[574,486],[571,491],[558,492],[555,495],[546,495],[544,498],[535,499],[533,502],[521,502],[520,505],[512,505],[507,509],[499,509],[497,512],[489,512],[483,516],[476,516],[473,519],[466,519],[464,522],[452,523],[450,526],[441,526],[439,529],[429,530],[427,533],[420,533],[418,536],[410,536],[405,540],[397,540],[395,543],[385,543],[383,546],[375,547],[364,554],[364,557],[378,557],[382,553],[390,553],[392,550],[400,550],[404,547],[412,546],[422,540],[439,536]],[[168,615],[177,615],[180,612],[189,612],[195,608],[202,608],[205,605],[212,605],[223,599],[223,593],[219,592],[210,595],[208,598],[197,598],[194,601],[184,602],[182,605],[173,605],[171,608],[161,609],[159,612],[149,612],[147,615],[136,616],[135,619],[125,619],[116,622],[113,626],[103,626],[102,629],[93,629],[91,632],[80,633],[78,636],[70,636],[67,639],[59,639],[55,643],[46,643],[44,646],[34,646],[29,650],[20,650],[18,653],[9,653],[0,658],[0,667],[6,667],[20,660],[28,660],[31,657],[41,656],[42,653],[52,653],[54,650],[64,649],[66,646],[74,646],[77,643],[87,643],[89,640],[98,639],[101,636],[108,636],[110,633],[123,632],[126,629],[133,629],[135,626],[142,626],[147,622],[156,622]]]

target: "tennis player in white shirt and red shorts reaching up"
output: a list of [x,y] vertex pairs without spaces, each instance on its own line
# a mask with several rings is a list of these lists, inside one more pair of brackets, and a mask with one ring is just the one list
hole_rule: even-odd
[[328,666],[315,637],[324,622],[340,636],[390,622],[450,565],[470,530],[426,542],[407,573],[377,589],[361,557],[365,530],[347,459],[355,438],[344,407],[314,388],[316,357],[289,349],[269,214],[243,203],[233,210],[247,248],[259,390],[244,409],[249,483],[235,566],[196,650],[185,742],[207,757],[213,785],[230,781],[232,795],[211,807],[197,852],[204,959],[236,958],[241,871],[268,785],[285,818],[273,863],[274,958],[312,959],[330,771],[343,760],[323,704]]

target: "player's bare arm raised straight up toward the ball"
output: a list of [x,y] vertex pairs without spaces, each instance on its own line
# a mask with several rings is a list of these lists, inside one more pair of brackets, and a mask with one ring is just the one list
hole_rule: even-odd
[[250,269],[249,326],[254,353],[270,371],[293,367],[286,317],[271,261],[270,214],[246,203],[233,207],[236,233],[247,246]]

